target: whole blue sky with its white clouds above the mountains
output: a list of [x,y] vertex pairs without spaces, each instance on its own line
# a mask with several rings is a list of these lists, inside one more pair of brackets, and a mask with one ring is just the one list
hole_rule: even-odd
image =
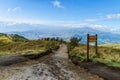
[[0,0],[0,32],[21,24],[120,32],[120,0]]

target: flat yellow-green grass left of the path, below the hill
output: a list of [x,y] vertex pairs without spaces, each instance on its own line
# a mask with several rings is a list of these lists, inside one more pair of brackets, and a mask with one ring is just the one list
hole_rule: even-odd
[[42,52],[57,49],[58,46],[59,42],[57,41],[31,40],[27,42],[12,42],[0,46],[0,55],[40,54]]

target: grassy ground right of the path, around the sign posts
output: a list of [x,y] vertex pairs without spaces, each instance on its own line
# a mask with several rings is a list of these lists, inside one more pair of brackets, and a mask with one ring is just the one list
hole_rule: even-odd
[[[118,45],[119,46],[119,45]],[[80,45],[75,47],[69,55],[78,56],[81,60],[86,58],[86,45]],[[120,67],[120,49],[111,47],[98,47],[99,57],[95,55],[95,47],[90,46],[90,59],[93,61],[99,61],[108,65]]]

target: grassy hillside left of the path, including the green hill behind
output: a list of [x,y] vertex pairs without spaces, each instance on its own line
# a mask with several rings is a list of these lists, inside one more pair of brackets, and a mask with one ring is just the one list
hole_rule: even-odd
[[59,43],[55,41],[28,40],[16,34],[0,33],[0,55],[37,54],[55,49],[58,45]]

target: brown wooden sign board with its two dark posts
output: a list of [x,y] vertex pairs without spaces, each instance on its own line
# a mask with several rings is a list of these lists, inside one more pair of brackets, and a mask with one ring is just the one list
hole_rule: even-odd
[[95,42],[95,53],[98,55],[98,49],[97,49],[97,34],[95,36],[90,36],[87,34],[87,61],[89,61],[89,43]]

